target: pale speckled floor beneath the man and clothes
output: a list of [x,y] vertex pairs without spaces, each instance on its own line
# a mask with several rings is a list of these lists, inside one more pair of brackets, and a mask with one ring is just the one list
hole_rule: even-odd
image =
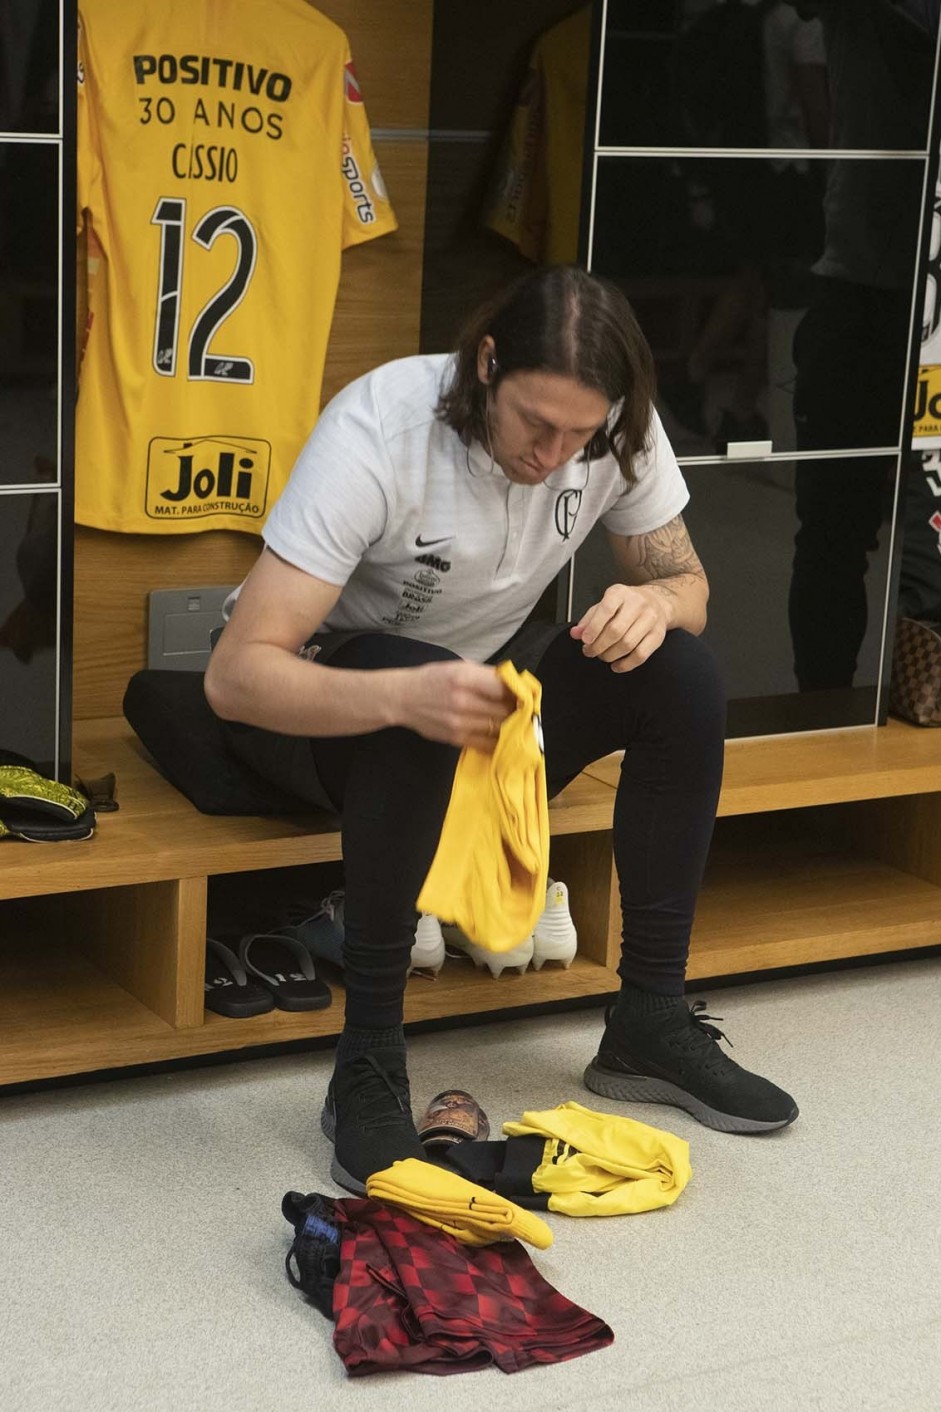
[[[283,1193],[335,1190],[329,1053],[0,1096],[0,1405],[937,1412],[940,974],[911,960],[706,991],[735,1058],[801,1117],[740,1138],[636,1107],[690,1141],[692,1180],[664,1211],[550,1216],[538,1268],[615,1344],[514,1377],[348,1380],[287,1282]],[[600,1028],[591,1010],[415,1036],[415,1107],[469,1087],[497,1135],[565,1099],[616,1111],[579,1082]]]

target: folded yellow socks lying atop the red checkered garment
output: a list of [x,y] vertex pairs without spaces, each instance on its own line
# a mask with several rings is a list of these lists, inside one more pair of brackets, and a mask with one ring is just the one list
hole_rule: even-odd
[[366,1195],[401,1206],[427,1226],[437,1226],[465,1245],[487,1245],[513,1237],[548,1250],[552,1233],[541,1217],[487,1192],[456,1172],[418,1158],[393,1162],[366,1179]]

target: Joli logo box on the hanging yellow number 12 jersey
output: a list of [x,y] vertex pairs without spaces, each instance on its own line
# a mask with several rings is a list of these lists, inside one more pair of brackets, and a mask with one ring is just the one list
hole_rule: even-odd
[[154,436],[144,513],[151,520],[240,515],[267,508],[271,446],[254,436]]

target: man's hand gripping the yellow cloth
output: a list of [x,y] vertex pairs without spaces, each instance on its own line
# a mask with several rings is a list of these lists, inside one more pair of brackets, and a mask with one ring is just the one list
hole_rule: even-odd
[[493,666],[428,662],[396,674],[396,724],[448,746],[492,751],[516,706]]

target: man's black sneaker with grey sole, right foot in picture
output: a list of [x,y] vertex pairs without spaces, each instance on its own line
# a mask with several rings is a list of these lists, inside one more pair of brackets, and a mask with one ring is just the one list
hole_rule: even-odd
[[670,1103],[719,1132],[769,1132],[797,1117],[788,1093],[742,1069],[719,1049],[725,1039],[705,1019],[705,1000],[625,1019],[608,1010],[600,1049],[585,1070],[585,1087],[605,1099]]

